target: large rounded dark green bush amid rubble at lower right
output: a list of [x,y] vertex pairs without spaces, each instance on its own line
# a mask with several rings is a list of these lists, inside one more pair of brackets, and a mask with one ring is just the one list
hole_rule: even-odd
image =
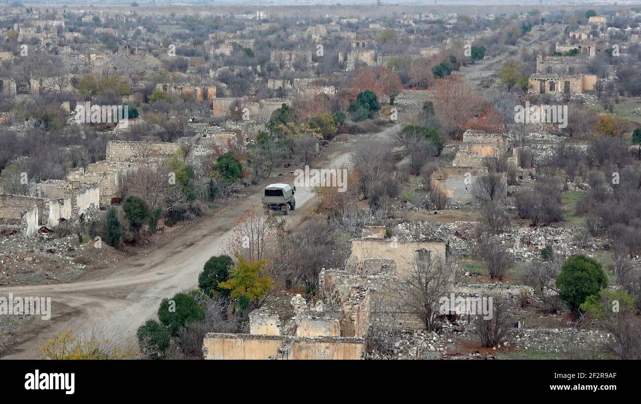
[[588,296],[597,295],[606,286],[601,264],[581,254],[565,261],[556,278],[559,297],[572,311],[577,311]]

